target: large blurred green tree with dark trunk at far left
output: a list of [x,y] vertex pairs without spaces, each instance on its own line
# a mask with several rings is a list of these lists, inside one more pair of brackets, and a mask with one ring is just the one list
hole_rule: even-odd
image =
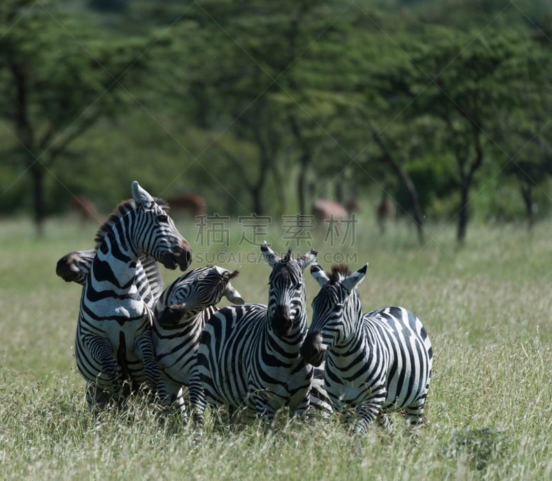
[[145,40],[102,37],[61,14],[55,2],[2,2],[0,116],[13,124],[13,132],[3,125],[17,142],[12,163],[32,179],[39,233],[46,173],[101,117],[114,118],[132,103],[127,89],[144,71]]

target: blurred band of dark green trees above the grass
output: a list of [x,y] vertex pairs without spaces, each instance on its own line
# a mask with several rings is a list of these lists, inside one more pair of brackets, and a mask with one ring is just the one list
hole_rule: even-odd
[[305,185],[310,205],[335,179],[409,211],[402,170],[422,212],[446,218],[464,184],[473,195],[500,172],[509,194],[472,214],[523,218],[551,172],[550,14],[544,1],[2,2],[0,210],[16,192],[36,209],[39,174],[48,213],[75,194],[108,210],[134,178],[223,214],[297,209]]

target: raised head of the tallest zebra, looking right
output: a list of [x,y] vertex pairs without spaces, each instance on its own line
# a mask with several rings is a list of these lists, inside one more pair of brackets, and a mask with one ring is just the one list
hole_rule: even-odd
[[192,248],[168,216],[166,204],[153,198],[132,182],[132,198],[136,203],[136,217],[129,223],[131,242],[139,254],[152,256],[167,269],[185,271],[192,263]]

